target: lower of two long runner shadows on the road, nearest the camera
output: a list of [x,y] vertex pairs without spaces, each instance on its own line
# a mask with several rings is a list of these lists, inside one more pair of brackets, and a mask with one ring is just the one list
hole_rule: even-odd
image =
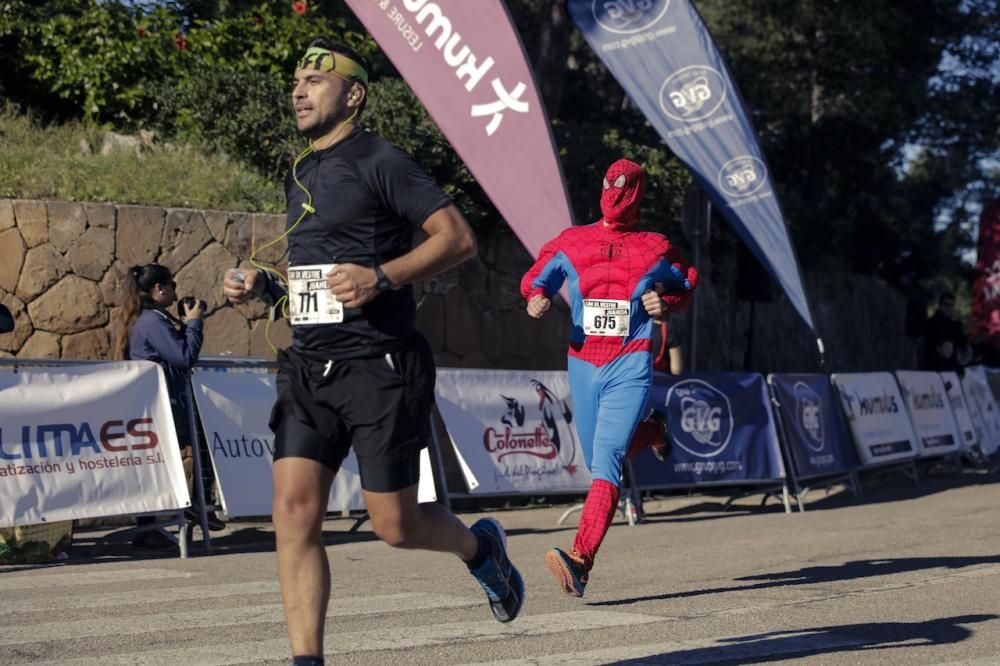
[[[997,619],[997,615],[960,615],[927,622],[844,624],[815,629],[777,631],[722,639],[719,645],[613,662],[634,664],[762,664],[836,652],[885,650],[895,647],[947,645],[966,640],[962,626]],[[863,657],[861,658],[863,659]]]

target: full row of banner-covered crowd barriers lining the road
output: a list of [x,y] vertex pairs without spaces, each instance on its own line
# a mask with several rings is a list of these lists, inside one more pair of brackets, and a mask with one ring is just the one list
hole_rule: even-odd
[[[206,511],[214,507],[202,460],[229,517],[271,513],[273,370],[254,359],[203,359],[175,405],[189,416],[194,506],[208,553]],[[629,522],[641,518],[643,492],[724,488],[732,497],[780,496],[786,512],[793,502],[802,511],[814,487],[840,483],[860,496],[859,475],[869,471],[899,469],[917,481],[918,463],[970,449],[991,456],[1000,448],[994,387],[1000,371],[983,367],[961,380],[911,371],[657,374],[653,400],[669,414],[673,452],[665,462],[641,452],[627,466]],[[431,415],[421,501],[589,489],[565,372],[442,368],[436,397],[444,427]],[[170,408],[152,363],[0,359],[0,527],[154,514],[181,527],[186,557],[183,509],[192,501]],[[446,447],[457,483],[446,482]],[[328,509],[364,509],[353,454]]]

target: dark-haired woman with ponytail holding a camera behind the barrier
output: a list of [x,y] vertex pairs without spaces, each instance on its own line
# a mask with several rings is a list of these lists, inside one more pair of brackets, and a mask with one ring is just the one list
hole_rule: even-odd
[[[178,300],[177,283],[170,269],[159,264],[133,266],[124,283],[125,297],[114,326],[114,358],[155,361],[163,368],[190,492],[193,458],[190,444],[185,444],[191,429],[184,398],[188,390],[187,373],[198,360],[205,338],[202,332],[205,301],[185,298],[178,303],[181,319],[168,312],[167,308]],[[154,521],[151,516],[136,519],[138,525]],[[132,540],[133,548],[162,550],[175,545],[159,530],[140,532]]]

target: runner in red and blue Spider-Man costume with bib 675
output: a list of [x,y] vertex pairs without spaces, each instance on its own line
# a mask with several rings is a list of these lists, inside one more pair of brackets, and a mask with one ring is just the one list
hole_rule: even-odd
[[570,393],[593,482],[572,550],[549,551],[545,564],[563,591],[577,597],[618,508],[626,456],[654,447],[663,459],[666,417],[644,420],[653,383],[650,334],[654,321],[690,304],[698,283],[698,271],[665,236],[637,229],[645,180],[634,162],[612,164],[601,193],[603,217],[546,243],[521,280],[528,314],[536,319],[564,282],[569,291]]

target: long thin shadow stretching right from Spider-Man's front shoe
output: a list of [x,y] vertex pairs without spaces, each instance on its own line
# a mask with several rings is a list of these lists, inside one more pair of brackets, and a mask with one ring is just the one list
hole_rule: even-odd
[[726,592],[749,592],[787,585],[813,585],[841,580],[855,580],[872,576],[889,576],[892,574],[920,571],[923,569],[961,569],[980,564],[1000,564],[1000,555],[983,555],[976,557],[901,557],[896,559],[854,560],[844,564],[831,566],[803,567],[794,571],[757,574],[743,576],[736,581],[762,581],[751,585],[734,585],[715,587],[704,590],[688,590],[686,592],[670,592],[629,599],[612,599],[595,601],[588,606],[626,606],[643,601],[663,601],[667,599],[683,599],[706,594],[723,594]]

